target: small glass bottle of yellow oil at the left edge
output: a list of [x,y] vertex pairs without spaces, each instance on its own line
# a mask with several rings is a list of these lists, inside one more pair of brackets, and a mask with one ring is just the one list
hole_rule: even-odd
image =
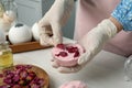
[[13,54],[8,42],[0,44],[0,69],[13,66]]

